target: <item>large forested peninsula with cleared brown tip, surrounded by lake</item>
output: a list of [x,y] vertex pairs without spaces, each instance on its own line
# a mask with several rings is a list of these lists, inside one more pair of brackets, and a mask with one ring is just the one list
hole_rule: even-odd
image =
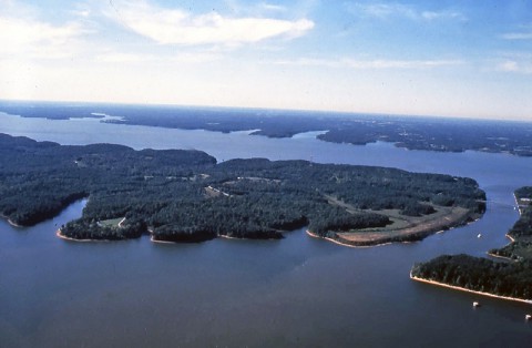
[[474,180],[396,168],[265,158],[216,160],[201,151],[65,146],[0,134],[0,213],[30,226],[88,198],[61,226],[72,239],[155,242],[218,236],[282,238],[305,227],[349,245],[418,240],[478,218]]

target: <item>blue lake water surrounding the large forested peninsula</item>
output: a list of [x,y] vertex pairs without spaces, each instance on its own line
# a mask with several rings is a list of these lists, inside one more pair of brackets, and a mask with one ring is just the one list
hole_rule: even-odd
[[[95,110],[94,112],[98,112]],[[311,134],[266,139],[205,131],[0,114],[0,132],[61,144],[197,149],[218,161],[303,158],[475,178],[477,223],[421,243],[348,248],[308,237],[161,245],[143,237],[73,243],[57,226],[83,202],[30,228],[0,221],[0,347],[530,347],[532,306],[411,282],[413,263],[483,256],[516,221],[512,192],[532,185],[532,158],[331,144]],[[482,233],[482,238],[477,235]],[[482,306],[472,308],[472,301]]]

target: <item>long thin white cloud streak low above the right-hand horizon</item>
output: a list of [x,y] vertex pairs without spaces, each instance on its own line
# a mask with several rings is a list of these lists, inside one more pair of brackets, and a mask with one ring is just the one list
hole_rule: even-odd
[[348,68],[356,70],[431,69],[461,65],[464,62],[460,60],[355,60],[349,58],[339,60],[298,59],[276,62],[276,64],[283,65]]

